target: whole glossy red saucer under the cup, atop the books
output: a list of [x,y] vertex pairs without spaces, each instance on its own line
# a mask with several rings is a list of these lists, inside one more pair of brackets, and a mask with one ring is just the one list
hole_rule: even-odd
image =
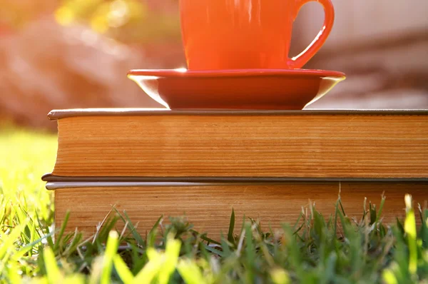
[[170,109],[298,110],[345,74],[323,70],[131,70],[128,78]]

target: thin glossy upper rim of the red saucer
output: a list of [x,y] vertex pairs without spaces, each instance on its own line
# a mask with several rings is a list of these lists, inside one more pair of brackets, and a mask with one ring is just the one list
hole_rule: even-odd
[[156,76],[156,77],[251,77],[251,76],[319,76],[346,78],[345,73],[321,69],[225,69],[225,70],[181,70],[181,69],[131,69],[127,76]]

